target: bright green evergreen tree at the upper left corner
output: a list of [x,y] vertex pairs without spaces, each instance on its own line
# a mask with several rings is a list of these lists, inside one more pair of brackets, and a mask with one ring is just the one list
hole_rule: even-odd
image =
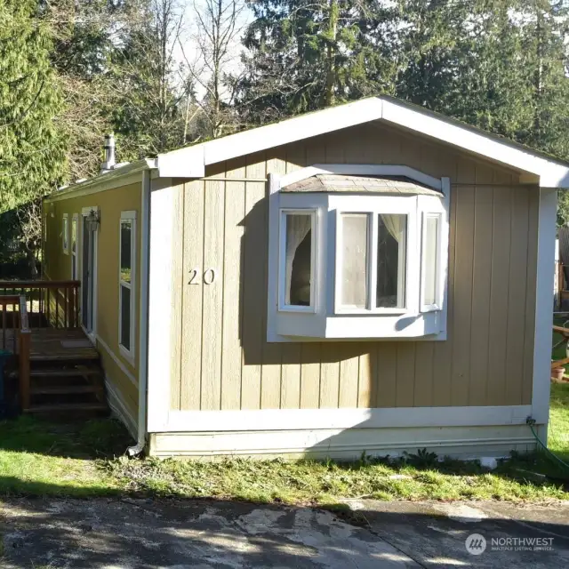
[[0,212],[48,193],[63,172],[52,38],[36,11],[36,0],[0,0]]

